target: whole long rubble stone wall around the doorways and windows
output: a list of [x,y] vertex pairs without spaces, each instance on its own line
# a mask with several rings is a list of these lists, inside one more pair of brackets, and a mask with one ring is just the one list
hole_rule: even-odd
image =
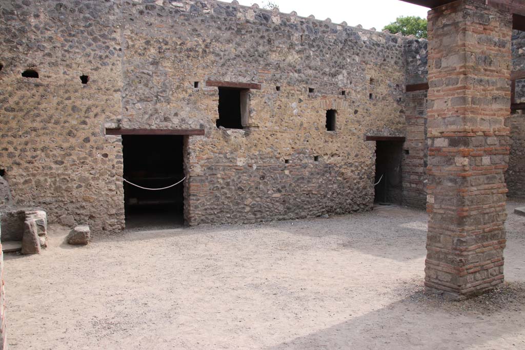
[[[0,34],[0,165],[14,202],[50,222],[122,228],[121,138],[108,125],[205,130],[185,141],[191,225],[370,210],[365,136],[406,134],[399,36],[235,2],[150,0],[4,2]],[[28,68],[39,78],[21,77]],[[216,127],[207,80],[261,83],[247,128]]]

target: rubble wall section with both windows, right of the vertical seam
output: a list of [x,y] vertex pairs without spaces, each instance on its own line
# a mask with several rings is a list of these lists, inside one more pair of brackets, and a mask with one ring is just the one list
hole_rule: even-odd
[[[405,135],[403,38],[217,2],[134,3],[123,18],[122,125],[206,131],[187,145],[191,225],[371,209],[364,137]],[[262,84],[248,128],[216,128],[207,80]]]

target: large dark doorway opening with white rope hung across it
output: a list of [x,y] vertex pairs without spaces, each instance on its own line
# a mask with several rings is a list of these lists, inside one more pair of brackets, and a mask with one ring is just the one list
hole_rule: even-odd
[[[184,178],[184,136],[122,135],[124,178],[162,188]],[[126,229],[165,229],[184,225],[184,182],[147,190],[124,182]]]

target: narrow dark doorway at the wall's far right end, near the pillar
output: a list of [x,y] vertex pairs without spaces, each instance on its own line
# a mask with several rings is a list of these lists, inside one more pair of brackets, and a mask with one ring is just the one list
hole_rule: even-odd
[[403,142],[376,141],[374,203],[401,205]]

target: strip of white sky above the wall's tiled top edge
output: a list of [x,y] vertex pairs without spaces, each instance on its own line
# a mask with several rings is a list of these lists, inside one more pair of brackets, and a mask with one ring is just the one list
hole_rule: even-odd
[[[267,3],[266,0],[237,1],[247,6],[257,3],[259,7]],[[349,26],[361,24],[363,28],[375,27],[377,30],[394,22],[398,16],[426,18],[428,11],[425,7],[400,0],[272,0],[272,2],[279,6],[280,12],[295,11],[302,17],[314,15],[317,19],[330,18],[332,23],[345,21]]]

